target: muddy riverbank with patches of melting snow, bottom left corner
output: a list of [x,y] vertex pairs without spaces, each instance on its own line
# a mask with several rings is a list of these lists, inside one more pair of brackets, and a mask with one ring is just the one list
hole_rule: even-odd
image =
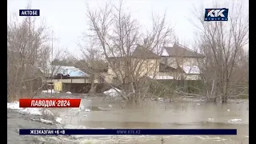
[[62,128],[61,118],[50,110],[18,108],[18,102],[7,103],[7,142],[8,144],[78,144],[70,136],[21,136],[19,129]]

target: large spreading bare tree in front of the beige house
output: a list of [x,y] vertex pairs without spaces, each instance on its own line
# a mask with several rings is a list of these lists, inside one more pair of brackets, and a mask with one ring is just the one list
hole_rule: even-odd
[[[138,21],[124,10],[122,1],[118,6],[107,3],[98,10],[90,10],[88,6],[86,16],[90,20],[90,41],[102,50],[113,77],[118,78],[122,90],[127,92],[124,98],[140,99],[139,82],[147,75],[157,74],[158,54],[170,42],[172,28],[166,26],[165,15],[153,17],[152,29],[146,34],[140,31]],[[134,50],[139,50],[137,56]],[[154,52],[156,58],[146,58],[147,51]],[[146,70],[145,66],[148,66]]]

